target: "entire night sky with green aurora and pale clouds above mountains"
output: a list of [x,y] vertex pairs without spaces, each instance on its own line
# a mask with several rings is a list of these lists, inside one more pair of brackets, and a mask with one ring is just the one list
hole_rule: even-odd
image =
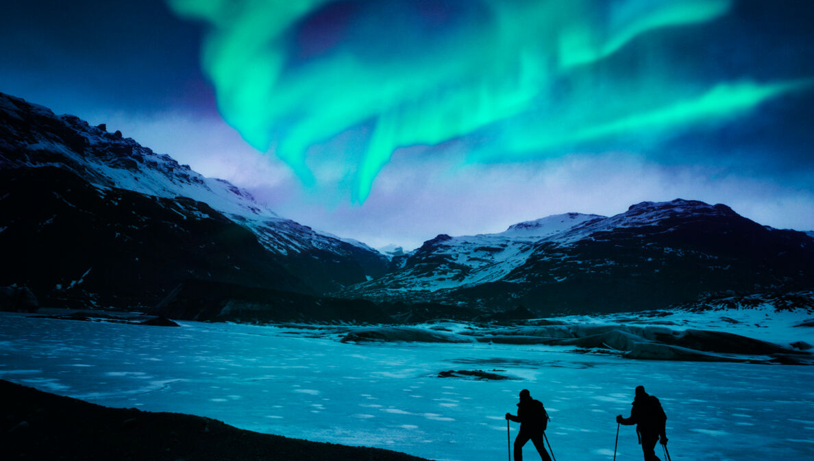
[[642,200],[814,230],[814,2],[6,2],[0,91],[373,246]]

